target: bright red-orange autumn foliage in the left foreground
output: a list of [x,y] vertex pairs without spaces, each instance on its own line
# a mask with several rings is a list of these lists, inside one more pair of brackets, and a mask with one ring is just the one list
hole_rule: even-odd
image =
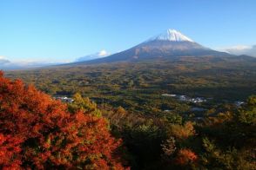
[[60,101],[0,72],[0,169],[122,169],[120,142],[104,118],[71,114]]

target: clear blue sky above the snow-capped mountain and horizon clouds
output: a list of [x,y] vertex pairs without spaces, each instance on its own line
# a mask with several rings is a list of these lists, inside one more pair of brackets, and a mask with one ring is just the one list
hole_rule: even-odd
[[0,56],[73,61],[131,48],[168,28],[211,48],[253,45],[255,9],[255,0],[3,0]]

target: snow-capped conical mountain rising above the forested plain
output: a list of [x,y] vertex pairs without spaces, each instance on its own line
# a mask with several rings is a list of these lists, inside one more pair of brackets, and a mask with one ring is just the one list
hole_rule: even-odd
[[138,44],[131,49],[81,63],[137,62],[157,58],[175,58],[179,56],[232,56],[225,52],[209,49],[194,42],[175,29],[167,29],[158,36]]

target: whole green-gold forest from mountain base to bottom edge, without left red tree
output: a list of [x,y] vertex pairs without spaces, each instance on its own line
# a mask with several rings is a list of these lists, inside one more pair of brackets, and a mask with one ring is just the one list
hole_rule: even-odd
[[72,97],[72,109],[98,108],[111,134],[123,140],[131,169],[256,168],[256,64],[250,60],[179,57],[6,75]]

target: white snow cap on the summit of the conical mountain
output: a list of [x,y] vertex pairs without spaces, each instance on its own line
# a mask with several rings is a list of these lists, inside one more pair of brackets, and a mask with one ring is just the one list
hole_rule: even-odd
[[182,33],[175,29],[167,29],[162,34],[152,37],[149,41],[153,40],[163,40],[171,42],[193,42],[192,39],[184,36]]

